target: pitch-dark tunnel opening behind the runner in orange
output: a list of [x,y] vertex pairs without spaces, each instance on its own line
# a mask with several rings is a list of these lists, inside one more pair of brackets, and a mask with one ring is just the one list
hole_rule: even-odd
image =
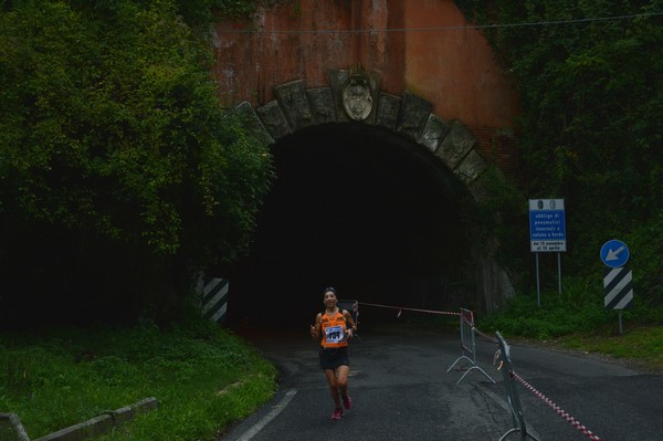
[[[230,327],[306,329],[326,286],[339,298],[453,311],[474,291],[467,191],[424,147],[336,124],[284,137],[272,153],[277,178],[252,251],[218,274],[230,280]],[[361,317],[386,312],[396,314]]]

